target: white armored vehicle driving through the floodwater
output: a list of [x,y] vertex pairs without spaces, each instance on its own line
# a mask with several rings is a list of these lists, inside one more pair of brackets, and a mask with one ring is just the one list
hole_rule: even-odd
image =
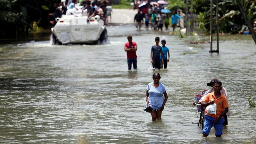
[[87,16],[62,15],[52,28],[52,44],[102,44],[107,40],[107,30],[104,21],[96,15],[90,20]]

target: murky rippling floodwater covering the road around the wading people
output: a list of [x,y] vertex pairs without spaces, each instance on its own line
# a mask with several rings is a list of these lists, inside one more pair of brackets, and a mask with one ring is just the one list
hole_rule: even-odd
[[[52,46],[31,41],[0,46],[0,143],[255,143],[256,46],[251,36],[220,36],[220,53],[210,44],[191,45],[203,37],[109,26],[104,45]],[[128,71],[123,46],[133,35],[138,70]],[[167,70],[159,70],[168,100],[162,121],[143,111],[152,82],[150,49],[154,38],[170,48]],[[50,38],[50,36],[49,36]],[[206,38],[209,39],[208,37]],[[215,46],[216,44],[214,44]],[[223,136],[214,128],[203,138],[192,102],[210,79],[228,90],[231,116]]]

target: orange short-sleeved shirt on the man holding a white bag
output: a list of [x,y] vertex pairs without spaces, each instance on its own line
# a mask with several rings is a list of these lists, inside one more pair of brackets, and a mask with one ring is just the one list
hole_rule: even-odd
[[220,95],[219,98],[216,99],[214,96],[214,92],[212,92],[212,93],[208,93],[204,97],[203,102],[210,102],[211,99],[214,99],[214,103],[216,104],[216,107],[217,107],[216,115],[215,114],[206,114],[206,115],[211,116],[213,118],[217,118],[223,112],[224,108],[228,108],[228,100],[222,94]]

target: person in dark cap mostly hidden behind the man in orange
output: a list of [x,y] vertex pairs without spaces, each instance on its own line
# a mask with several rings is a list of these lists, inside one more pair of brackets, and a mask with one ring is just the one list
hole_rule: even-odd
[[[204,95],[202,96],[202,98],[199,100],[199,102],[197,104],[201,104],[201,102],[203,101],[204,97],[208,94],[208,93],[211,93],[211,92],[214,92],[214,89],[213,89],[213,83],[216,82],[216,81],[219,81],[217,78],[213,78],[210,82],[207,83],[207,86],[211,86],[212,88],[207,90]],[[221,90],[220,90],[220,93],[222,93],[223,96],[226,97],[226,99],[228,100],[228,94],[227,94],[227,90],[226,88],[222,87]],[[225,122],[223,123],[224,126],[228,125],[228,117],[230,116],[230,110],[228,109],[228,112],[226,113],[224,117],[225,119]]]

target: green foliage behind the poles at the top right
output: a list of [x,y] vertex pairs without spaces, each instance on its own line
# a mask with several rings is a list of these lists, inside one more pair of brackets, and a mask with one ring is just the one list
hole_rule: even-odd
[[[183,6],[186,0],[167,0],[170,8],[175,9],[177,6]],[[256,0],[240,0],[244,10],[248,14],[248,18],[253,23],[256,19]],[[182,4],[183,2],[183,4]],[[198,16],[198,28],[200,30],[210,30],[210,0],[193,0],[193,12]],[[190,8],[190,0],[188,0],[188,8]],[[214,21],[216,21],[216,4],[213,5]],[[246,28],[246,23],[239,10],[236,0],[219,0],[219,28],[220,32],[237,33]]]

